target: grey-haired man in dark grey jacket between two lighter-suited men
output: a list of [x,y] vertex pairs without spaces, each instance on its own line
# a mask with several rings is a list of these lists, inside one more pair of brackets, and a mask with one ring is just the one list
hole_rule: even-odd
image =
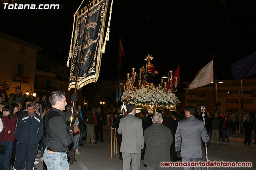
[[171,161],[172,132],[162,124],[163,117],[161,113],[154,113],[152,122],[153,124],[144,131],[144,142],[147,146],[144,164],[147,165],[147,170],[168,170],[169,167],[161,167],[161,162]]

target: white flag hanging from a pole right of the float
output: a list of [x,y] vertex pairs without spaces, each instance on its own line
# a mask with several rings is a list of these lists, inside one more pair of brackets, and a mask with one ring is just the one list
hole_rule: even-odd
[[205,86],[211,82],[213,82],[213,60],[198,71],[188,90]]

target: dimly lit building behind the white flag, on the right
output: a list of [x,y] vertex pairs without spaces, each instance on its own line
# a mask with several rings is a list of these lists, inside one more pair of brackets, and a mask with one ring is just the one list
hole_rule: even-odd
[[[216,82],[217,95],[214,89]],[[256,108],[255,78],[242,80],[242,86],[241,81],[236,82],[236,80],[223,80],[223,83],[219,83],[219,81],[216,82],[190,90],[188,90],[188,86],[191,82],[183,82],[186,84],[186,88],[184,88],[186,91],[186,106],[193,105],[197,109],[200,109],[201,106],[205,106],[209,112],[213,111],[214,105],[221,111],[241,111],[243,91],[243,110],[250,111],[250,108]],[[214,96],[217,97],[216,101]]]

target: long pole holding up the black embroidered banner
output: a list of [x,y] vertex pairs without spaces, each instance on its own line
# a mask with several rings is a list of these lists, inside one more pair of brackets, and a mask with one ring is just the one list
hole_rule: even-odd
[[[86,20],[85,20],[85,23],[84,23],[85,28],[84,28],[84,33],[83,33],[81,52],[80,52],[79,60],[77,61],[78,68],[77,68],[77,72],[76,72],[76,83],[75,83],[75,92],[74,93],[76,93],[76,90],[77,90],[77,79],[78,79],[78,74],[79,74],[79,69],[80,69],[80,61],[81,61],[82,56],[83,56],[83,47],[84,47],[84,40],[85,40],[85,37],[86,37],[85,34],[86,34],[86,29],[87,29],[90,5],[91,5],[91,0],[89,0],[89,3],[88,3],[88,10],[87,10],[87,14],[86,14]],[[73,99],[72,108],[71,108],[70,126],[72,125],[72,117],[73,117],[73,112],[74,112],[74,105],[75,105],[75,99]]]

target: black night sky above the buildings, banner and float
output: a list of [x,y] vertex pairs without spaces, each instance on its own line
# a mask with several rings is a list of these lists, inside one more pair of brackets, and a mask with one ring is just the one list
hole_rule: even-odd
[[[44,48],[40,53],[66,64],[73,18],[82,1],[17,0],[20,4],[60,4],[59,10],[4,10],[0,31]],[[131,4],[134,2],[134,4]],[[181,80],[192,81],[212,60],[217,78],[234,79],[231,64],[256,51],[254,1],[114,0],[110,41],[102,54],[100,79],[115,79],[121,35],[125,56],[121,76],[144,64],[150,53],[159,75],[181,65]],[[82,6],[88,1],[85,0]],[[110,3],[108,10],[110,9]],[[108,13],[109,16],[109,13]],[[106,26],[105,31],[107,27]],[[255,78],[251,76],[251,78]]]

